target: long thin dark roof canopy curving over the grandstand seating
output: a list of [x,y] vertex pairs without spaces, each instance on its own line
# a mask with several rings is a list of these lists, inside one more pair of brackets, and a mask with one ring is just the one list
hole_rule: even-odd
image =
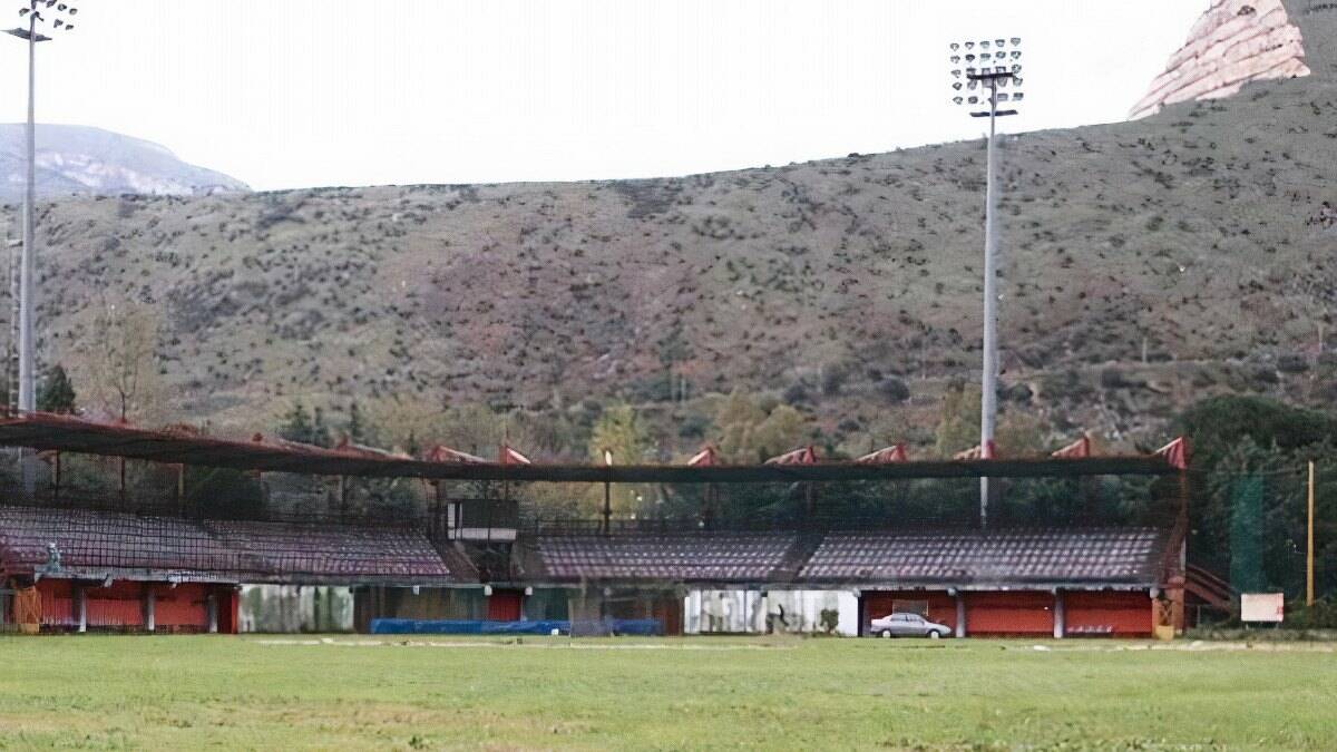
[[0,446],[259,472],[429,480],[793,483],[910,478],[1169,475],[1183,470],[1182,454],[1165,451],[1123,456],[737,466],[441,462],[357,446],[324,448],[265,438],[259,434],[246,442],[207,436],[190,427],[148,430],[41,412],[0,419]]

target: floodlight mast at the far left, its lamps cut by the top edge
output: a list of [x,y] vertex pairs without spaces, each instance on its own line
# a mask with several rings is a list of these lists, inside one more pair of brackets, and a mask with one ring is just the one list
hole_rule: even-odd
[[5,33],[17,36],[28,43],[28,127],[27,140],[27,185],[23,194],[23,250],[19,260],[19,412],[32,412],[37,407],[37,391],[35,364],[33,364],[33,333],[32,318],[35,306],[32,302],[33,256],[36,252],[33,213],[37,202],[37,169],[36,169],[36,124],[35,114],[35,67],[36,47],[39,41],[49,41],[45,31],[68,32],[74,31],[71,23],[79,15],[79,8],[59,0],[27,0],[19,8],[19,17],[28,23],[27,28],[16,27]]

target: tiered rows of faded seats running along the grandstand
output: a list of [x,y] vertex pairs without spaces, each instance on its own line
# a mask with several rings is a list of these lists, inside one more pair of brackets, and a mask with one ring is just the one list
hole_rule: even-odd
[[[489,566],[489,575],[536,583],[1142,586],[1159,581],[1166,538],[1152,527],[541,533],[496,551],[517,566]],[[436,549],[413,527],[0,506],[4,571],[43,571],[51,543],[66,575],[86,577],[447,585],[477,582],[483,561]]]

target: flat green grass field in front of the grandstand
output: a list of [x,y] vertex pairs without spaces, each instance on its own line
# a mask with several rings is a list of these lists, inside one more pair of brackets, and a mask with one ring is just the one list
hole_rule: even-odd
[[1332,644],[0,637],[0,748],[1337,749]]

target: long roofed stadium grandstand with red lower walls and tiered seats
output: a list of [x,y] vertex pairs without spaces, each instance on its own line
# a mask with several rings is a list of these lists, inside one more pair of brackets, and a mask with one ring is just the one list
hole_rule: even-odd
[[[0,446],[44,468],[0,504],[0,625],[23,632],[237,632],[241,587],[283,585],[349,589],[364,632],[812,630],[830,603],[826,630],[848,634],[912,610],[959,637],[1150,636],[1182,629],[1186,587],[1203,591],[1186,581],[1182,440],[1132,456],[1083,440],[1032,459],[889,447],[822,462],[806,447],[751,466],[710,450],[682,466],[576,466],[505,446],[495,460],[406,456],[32,413],[0,420]],[[988,525],[969,503],[897,504],[906,484],[947,498],[980,476],[1056,483],[1071,503],[1036,519],[1000,500]],[[1143,479],[1155,503],[1130,518],[1083,502],[1100,478]],[[701,504],[550,519],[512,498],[528,482],[686,487]],[[757,484],[796,488],[801,514],[714,514]],[[885,488],[885,503],[822,511],[856,484]]]

